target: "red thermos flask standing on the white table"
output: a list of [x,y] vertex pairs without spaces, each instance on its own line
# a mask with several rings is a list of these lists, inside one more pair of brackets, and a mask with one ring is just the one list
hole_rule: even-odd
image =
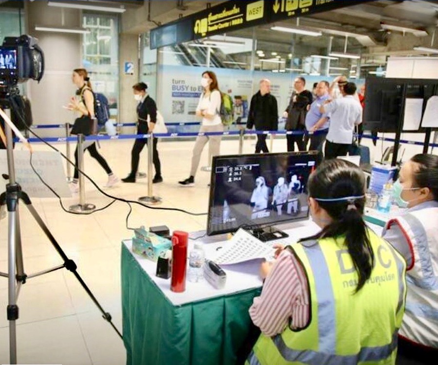
[[172,235],[172,281],[170,290],[182,293],[185,291],[185,269],[187,266],[188,233],[174,231]]

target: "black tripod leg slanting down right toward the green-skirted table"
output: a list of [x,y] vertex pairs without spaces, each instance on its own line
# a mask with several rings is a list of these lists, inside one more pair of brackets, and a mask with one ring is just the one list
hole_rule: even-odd
[[[90,288],[87,286],[87,284],[84,282],[84,280],[80,277],[80,275],[78,274],[78,272],[76,271],[76,263],[69,259],[67,257],[67,255],[65,254],[65,252],[62,250],[61,246],[59,245],[59,243],[56,242],[55,237],[52,235],[52,233],[50,232],[49,228],[46,226],[46,224],[44,223],[44,221],[41,219],[41,217],[39,216],[37,210],[34,208],[34,206],[32,205],[29,196],[24,192],[24,191],[20,191],[20,199],[24,202],[24,204],[26,205],[26,208],[29,210],[29,212],[32,214],[32,216],[34,217],[34,219],[37,221],[38,226],[41,227],[41,229],[43,230],[43,232],[45,233],[45,235],[47,236],[47,238],[49,239],[49,241],[52,243],[52,245],[55,247],[55,250],[58,252],[59,256],[61,256],[62,260],[64,260],[64,265],[61,265],[58,268],[62,268],[65,267],[67,270],[71,271],[73,273],[73,275],[76,277],[76,279],[79,281],[79,283],[82,285],[82,287],[84,288],[84,290],[87,292],[87,294],[90,296],[91,300],[94,302],[94,304],[96,305],[96,307],[100,310],[100,312],[102,313],[102,317],[108,321],[111,325],[111,327],[117,332],[117,334],[120,336],[120,338],[123,339],[122,334],[119,332],[119,330],[117,329],[117,327],[114,326],[114,324],[112,323],[112,318],[111,318],[111,314],[108,312],[105,312],[105,310],[102,308],[102,306],[100,305],[100,303],[97,301],[96,297],[91,293]],[[50,271],[56,270],[52,269]],[[47,272],[50,272],[47,271]],[[39,273],[39,275],[43,274],[43,272]],[[30,277],[30,276],[29,276]]]

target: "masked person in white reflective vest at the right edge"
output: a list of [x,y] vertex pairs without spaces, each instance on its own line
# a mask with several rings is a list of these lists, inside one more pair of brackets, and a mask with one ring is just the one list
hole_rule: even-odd
[[394,200],[408,208],[386,223],[382,235],[407,262],[398,356],[400,364],[430,364],[438,354],[438,156],[420,154],[405,162]]

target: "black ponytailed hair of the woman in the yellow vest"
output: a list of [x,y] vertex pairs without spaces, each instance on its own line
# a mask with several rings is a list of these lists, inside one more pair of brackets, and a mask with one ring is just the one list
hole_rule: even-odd
[[[308,190],[309,196],[327,211],[332,223],[317,235],[301,241],[345,235],[345,244],[358,275],[355,290],[357,293],[371,276],[374,266],[374,252],[362,218],[365,207],[365,176],[357,166],[348,161],[330,159],[310,175]],[[331,200],[345,197],[351,199]]]

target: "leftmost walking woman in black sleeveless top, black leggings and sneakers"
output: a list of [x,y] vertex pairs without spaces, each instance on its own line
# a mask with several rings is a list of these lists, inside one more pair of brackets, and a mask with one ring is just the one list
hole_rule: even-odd
[[[94,94],[91,89],[91,83],[90,78],[88,77],[88,72],[85,69],[75,69],[73,70],[73,76],[72,76],[73,84],[78,87],[78,90],[76,91],[76,95],[79,96],[79,98],[72,97],[70,99],[70,104],[68,108],[73,111],[79,112],[81,116],[89,116],[91,118],[91,121],[95,118],[95,111],[94,111]],[[92,128],[91,128],[92,130]],[[112,170],[110,169],[110,166],[108,165],[105,158],[99,154],[96,148],[96,141],[90,140],[85,141],[83,143],[84,151],[88,150],[90,152],[91,157],[93,157],[100,166],[105,170],[105,172],[108,174],[108,182],[105,185],[106,187],[111,187],[115,185],[117,182],[119,182],[119,178],[113,174]],[[78,186],[78,177],[79,173],[77,171],[77,146],[76,150],[74,151],[74,175],[73,175],[73,182],[71,184],[71,191],[72,192],[78,192],[79,186]]]

